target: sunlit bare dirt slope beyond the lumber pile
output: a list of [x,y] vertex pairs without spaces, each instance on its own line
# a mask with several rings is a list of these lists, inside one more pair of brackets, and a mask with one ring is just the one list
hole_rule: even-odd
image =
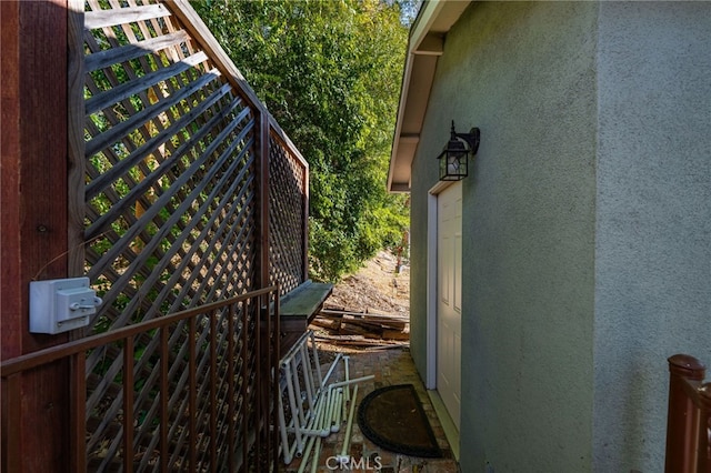
[[333,288],[327,308],[405,315],[410,311],[410,268],[397,271],[398,258],[385,251]]

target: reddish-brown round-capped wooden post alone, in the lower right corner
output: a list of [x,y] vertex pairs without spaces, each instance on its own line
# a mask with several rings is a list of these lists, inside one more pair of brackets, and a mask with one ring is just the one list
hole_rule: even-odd
[[699,416],[684,386],[688,381],[700,383],[705,375],[705,366],[695,358],[684,354],[675,354],[668,362],[670,380],[664,471],[691,473],[697,457],[694,439],[699,430]]

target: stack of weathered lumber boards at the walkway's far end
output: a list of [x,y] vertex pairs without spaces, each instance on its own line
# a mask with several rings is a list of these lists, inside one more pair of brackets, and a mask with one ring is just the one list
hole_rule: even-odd
[[[408,315],[370,313],[328,308],[311,322],[327,334],[322,339],[346,345],[407,344],[410,339]],[[403,343],[400,343],[403,342]]]

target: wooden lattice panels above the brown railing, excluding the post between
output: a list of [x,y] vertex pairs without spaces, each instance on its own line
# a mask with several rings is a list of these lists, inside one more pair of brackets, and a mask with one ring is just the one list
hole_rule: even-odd
[[289,291],[306,279],[304,161],[278,129],[262,138],[266,112],[171,8],[87,2],[83,243],[106,302],[93,331],[260,285],[262,213],[264,282]]

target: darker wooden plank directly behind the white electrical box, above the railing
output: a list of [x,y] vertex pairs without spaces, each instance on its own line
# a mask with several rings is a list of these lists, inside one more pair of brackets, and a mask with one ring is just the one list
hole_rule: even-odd
[[[16,203],[22,220],[12,232],[21,235],[19,258],[24,286],[19,314],[28,324],[28,286],[33,280],[67,275],[67,14],[64,4],[20,2],[21,23],[32,24],[32,40],[20,34],[19,189]],[[61,21],[57,16],[63,13]],[[4,23],[4,18],[3,18]],[[4,24],[3,24],[4,29]],[[41,30],[41,31],[36,31]],[[23,30],[24,31],[24,30]],[[61,41],[58,41],[61,38]],[[38,44],[41,50],[36,49]],[[3,43],[4,50],[4,43]],[[4,80],[4,78],[3,78]],[[3,87],[4,89],[4,87]],[[41,104],[41,105],[38,105]],[[48,113],[48,111],[52,113]],[[3,127],[7,122],[3,120]],[[41,130],[41,132],[39,132]],[[3,154],[3,168],[6,155]],[[4,172],[4,169],[3,169]],[[22,254],[24,253],[24,254]],[[3,301],[4,305],[4,301]],[[28,353],[58,343],[62,336],[29,335]]]

